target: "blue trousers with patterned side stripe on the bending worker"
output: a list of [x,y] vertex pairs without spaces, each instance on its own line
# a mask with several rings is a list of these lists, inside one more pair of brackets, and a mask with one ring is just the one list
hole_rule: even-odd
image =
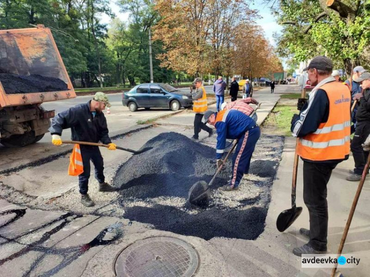
[[261,131],[259,127],[255,127],[239,138],[238,145],[236,145],[236,150],[232,157],[231,187],[238,187],[243,175],[249,173],[252,154],[255,151],[260,135]]

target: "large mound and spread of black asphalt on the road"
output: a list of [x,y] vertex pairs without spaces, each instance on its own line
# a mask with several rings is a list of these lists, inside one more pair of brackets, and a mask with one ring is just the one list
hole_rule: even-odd
[[[158,198],[168,198],[171,204],[179,199],[188,198],[190,187],[197,181],[207,183],[216,172],[215,148],[193,141],[178,133],[162,133],[150,139],[144,147],[151,150],[132,156],[116,172],[113,185],[119,187],[119,203],[125,207],[124,218],[152,224],[155,229],[170,231],[186,236],[210,240],[214,237],[254,240],[263,232],[267,214],[269,187],[276,173],[276,166],[266,161],[251,165],[251,171],[269,175],[266,180],[266,197],[263,205],[259,197],[248,203],[250,208],[220,208],[212,205],[199,208],[186,203],[182,208],[177,205],[157,203]],[[211,191],[217,190],[231,178],[231,159],[220,173]],[[259,182],[261,187],[262,183]],[[231,192],[234,193],[234,192]],[[238,193],[238,192],[235,192]],[[227,192],[226,192],[227,194]],[[150,205],[127,205],[132,201]],[[227,206],[227,205],[226,205]]]

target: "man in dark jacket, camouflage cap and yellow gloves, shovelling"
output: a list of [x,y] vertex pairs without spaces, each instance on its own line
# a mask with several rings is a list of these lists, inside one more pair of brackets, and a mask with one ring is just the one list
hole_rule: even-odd
[[[85,103],[79,104],[68,110],[57,114],[52,122],[49,131],[52,135],[52,143],[61,145],[63,129],[71,128],[72,140],[87,142],[103,142],[109,145],[109,150],[115,150],[116,145],[109,138],[107,120],[103,110],[110,107],[108,97],[103,92],[97,92],[94,98]],[[114,191],[105,182],[103,157],[98,146],[80,145],[83,173],[78,176],[79,192],[81,203],[86,207],[94,206],[94,202],[87,194],[90,177],[90,160],[95,166],[95,178],[99,181],[99,191]]]

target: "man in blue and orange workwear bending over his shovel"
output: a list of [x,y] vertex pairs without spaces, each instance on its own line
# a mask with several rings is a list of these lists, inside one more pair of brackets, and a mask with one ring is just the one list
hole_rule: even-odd
[[220,112],[206,111],[203,122],[214,125],[217,130],[217,167],[222,164],[226,138],[238,139],[238,145],[232,158],[231,181],[229,185],[222,187],[224,191],[237,190],[243,175],[249,173],[252,154],[261,133],[259,126],[252,117],[243,112],[226,109]]

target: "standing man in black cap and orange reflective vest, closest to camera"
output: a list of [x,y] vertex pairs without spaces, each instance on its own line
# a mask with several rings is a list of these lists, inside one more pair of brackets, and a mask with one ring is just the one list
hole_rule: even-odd
[[292,119],[291,131],[299,138],[296,154],[303,160],[303,200],[310,224],[309,230],[300,230],[309,242],[293,249],[297,256],[327,251],[327,184],[336,165],[349,156],[351,94],[331,76],[332,69],[325,56],[311,60],[304,71],[315,87]]

